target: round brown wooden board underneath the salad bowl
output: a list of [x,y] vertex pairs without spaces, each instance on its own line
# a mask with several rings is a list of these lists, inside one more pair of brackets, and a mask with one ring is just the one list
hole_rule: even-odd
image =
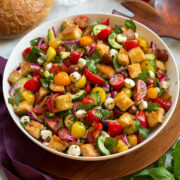
[[149,143],[122,157],[85,162],[70,160],[48,153],[41,170],[68,179],[114,179],[133,174],[153,162],[169,150],[180,135],[180,98],[176,110],[165,128]]

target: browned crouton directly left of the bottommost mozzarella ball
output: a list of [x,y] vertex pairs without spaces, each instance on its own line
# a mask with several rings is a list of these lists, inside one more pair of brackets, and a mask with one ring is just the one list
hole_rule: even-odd
[[64,151],[69,144],[66,141],[62,141],[58,136],[53,135],[49,142],[48,147],[54,149],[56,151],[62,152]]

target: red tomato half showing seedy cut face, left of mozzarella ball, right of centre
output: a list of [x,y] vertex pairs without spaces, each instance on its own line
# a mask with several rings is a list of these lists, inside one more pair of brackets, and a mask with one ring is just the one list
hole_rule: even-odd
[[111,77],[109,82],[113,88],[119,89],[124,84],[124,76],[121,74],[117,74],[117,75]]

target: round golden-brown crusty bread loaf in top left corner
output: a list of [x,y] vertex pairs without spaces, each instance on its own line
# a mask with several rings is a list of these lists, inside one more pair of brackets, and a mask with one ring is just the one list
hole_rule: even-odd
[[40,24],[54,0],[0,0],[0,39],[18,37]]

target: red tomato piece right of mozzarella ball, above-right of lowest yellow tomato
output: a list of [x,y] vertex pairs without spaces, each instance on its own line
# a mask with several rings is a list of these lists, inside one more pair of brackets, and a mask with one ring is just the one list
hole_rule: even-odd
[[97,109],[92,109],[86,113],[86,116],[83,119],[88,125],[92,125],[93,122],[98,123],[100,121],[96,115],[96,112],[97,112]]

